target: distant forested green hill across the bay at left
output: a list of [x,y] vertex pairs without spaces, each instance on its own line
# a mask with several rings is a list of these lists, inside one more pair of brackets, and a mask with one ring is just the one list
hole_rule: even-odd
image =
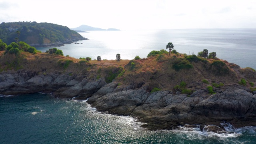
[[78,40],[85,40],[66,26],[37,22],[2,22],[0,39],[6,44],[22,41],[31,46],[60,46]]

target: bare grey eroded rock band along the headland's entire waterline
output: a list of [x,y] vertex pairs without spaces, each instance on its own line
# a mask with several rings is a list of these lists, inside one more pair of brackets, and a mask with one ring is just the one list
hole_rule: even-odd
[[21,70],[0,73],[0,94],[54,92],[59,98],[88,98],[98,111],[139,118],[150,130],[172,129],[184,124],[214,124],[211,131],[221,131],[220,123],[236,127],[256,126],[256,94],[241,86],[228,86],[208,95],[197,90],[190,96],[172,91],[147,92],[147,85],[118,86],[106,84],[103,78],[88,80],[82,76],[52,73],[37,75]]

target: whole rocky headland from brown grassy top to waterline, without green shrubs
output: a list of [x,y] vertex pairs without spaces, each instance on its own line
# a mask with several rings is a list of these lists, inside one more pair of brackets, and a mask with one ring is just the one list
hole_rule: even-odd
[[[149,58],[127,61],[123,66],[122,62],[73,59],[64,67],[65,57],[49,54],[35,57],[23,58],[26,60],[21,62],[20,70],[0,73],[0,94],[51,92],[67,100],[88,99],[98,111],[136,117],[150,130],[173,129],[184,124],[221,127],[222,122],[236,127],[256,126],[256,91],[248,84],[255,83],[256,73],[249,68],[229,63],[214,67],[210,62],[190,62],[193,68],[177,71],[172,67],[176,60],[172,56],[165,62]],[[158,67],[154,66],[155,62]],[[132,67],[132,63],[136,66]],[[202,82],[205,78],[211,83]],[[241,78],[246,80],[246,85],[238,84]],[[187,83],[186,90],[191,93],[183,92],[182,85],[180,89],[174,88],[180,81]],[[207,86],[220,82],[224,85],[216,86],[210,94]],[[155,86],[158,90],[153,91]]]

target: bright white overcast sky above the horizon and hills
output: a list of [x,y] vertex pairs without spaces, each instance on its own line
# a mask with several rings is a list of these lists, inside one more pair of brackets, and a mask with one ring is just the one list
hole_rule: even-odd
[[256,28],[256,0],[0,0],[0,23],[121,30]]

